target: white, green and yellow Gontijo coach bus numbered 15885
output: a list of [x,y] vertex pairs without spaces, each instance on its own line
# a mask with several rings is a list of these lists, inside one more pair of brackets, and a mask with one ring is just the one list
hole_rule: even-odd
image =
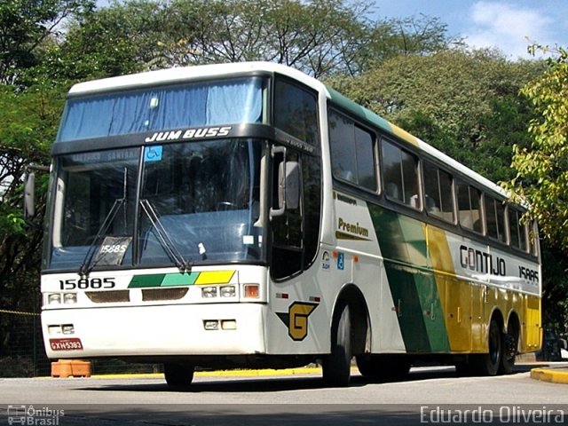
[[[52,148],[41,277],[51,359],[414,362],[511,372],[540,348],[525,207],[298,70],[265,62],[76,84]],[[33,204],[31,197],[28,206]]]

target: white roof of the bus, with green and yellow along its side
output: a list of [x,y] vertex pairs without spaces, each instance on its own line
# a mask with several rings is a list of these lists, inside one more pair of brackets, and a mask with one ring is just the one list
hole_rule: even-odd
[[359,118],[359,120],[361,120],[361,122],[365,122],[373,127],[378,127],[398,138],[398,140],[401,140],[410,146],[414,146],[414,148],[419,151],[430,155],[430,157],[437,158],[440,162],[446,164],[450,170],[455,170],[462,176],[469,177],[481,185],[485,190],[497,193],[502,197],[508,196],[501,186],[494,184],[489,179],[479,175],[473,170],[470,170],[460,162],[455,161],[453,158],[442,153],[435,147],[430,146],[422,139],[414,137],[406,130],[400,129],[395,124],[385,120],[383,117],[375,114],[366,107],[360,106],[351,99],[346,98],[338,91],[327,87],[325,84],[319,82],[319,80],[309,75],[305,75],[303,72],[295,68],[273,62],[237,62],[232,64],[214,64],[194,67],[172,67],[133,75],[120,75],[84,83],[77,83],[71,88],[68,95],[70,97],[74,97],[86,94],[95,94],[98,92],[129,90],[144,86],[152,86],[155,84],[182,83],[187,80],[197,79],[203,75],[225,77],[231,75],[242,75],[255,71],[287,75],[288,77],[300,83],[304,83],[316,91],[323,92],[327,99],[330,99],[336,105],[341,106],[344,110],[355,115]]

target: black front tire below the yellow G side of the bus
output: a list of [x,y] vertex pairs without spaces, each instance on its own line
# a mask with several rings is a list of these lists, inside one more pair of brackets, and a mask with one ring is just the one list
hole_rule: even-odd
[[351,314],[348,304],[340,304],[331,326],[331,352],[321,362],[323,380],[328,386],[346,387],[351,379]]

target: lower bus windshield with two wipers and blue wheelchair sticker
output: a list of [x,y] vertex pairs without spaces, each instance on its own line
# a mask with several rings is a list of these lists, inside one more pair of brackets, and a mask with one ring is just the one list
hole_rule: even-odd
[[59,157],[47,269],[259,260],[262,146],[225,138]]

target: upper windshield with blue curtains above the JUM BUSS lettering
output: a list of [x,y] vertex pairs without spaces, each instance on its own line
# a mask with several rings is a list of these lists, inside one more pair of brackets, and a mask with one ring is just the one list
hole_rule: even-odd
[[261,122],[261,77],[153,87],[67,100],[56,143]]

